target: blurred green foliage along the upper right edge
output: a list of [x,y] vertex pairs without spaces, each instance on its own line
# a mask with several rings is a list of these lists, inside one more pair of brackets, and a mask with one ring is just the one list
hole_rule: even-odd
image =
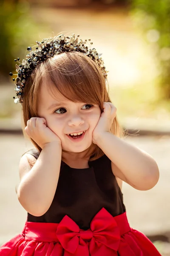
[[131,0],[131,5],[137,25],[161,64],[162,96],[170,99],[170,0]]

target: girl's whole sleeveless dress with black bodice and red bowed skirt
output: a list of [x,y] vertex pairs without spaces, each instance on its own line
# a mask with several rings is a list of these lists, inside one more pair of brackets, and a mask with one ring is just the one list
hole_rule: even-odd
[[40,217],[28,213],[22,233],[0,247],[0,256],[161,256],[129,226],[111,160],[104,155],[89,166],[62,162],[50,208]]

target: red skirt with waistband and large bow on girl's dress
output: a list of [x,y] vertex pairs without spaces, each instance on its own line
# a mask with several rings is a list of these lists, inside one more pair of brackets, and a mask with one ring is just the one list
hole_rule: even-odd
[[161,256],[144,234],[130,228],[126,212],[102,208],[82,230],[67,215],[57,223],[26,222],[23,232],[0,247],[0,256]]

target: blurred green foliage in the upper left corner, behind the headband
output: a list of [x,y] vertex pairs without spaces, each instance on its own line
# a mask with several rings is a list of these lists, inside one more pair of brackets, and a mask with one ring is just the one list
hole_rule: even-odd
[[[42,28],[43,26],[43,28]],[[8,79],[14,70],[14,59],[25,58],[23,49],[28,42],[34,42],[35,35],[45,30],[44,24],[37,24],[30,12],[29,3],[22,0],[1,0],[0,2],[0,81]],[[37,40],[37,37],[36,37]],[[22,53],[22,54],[21,54]]]

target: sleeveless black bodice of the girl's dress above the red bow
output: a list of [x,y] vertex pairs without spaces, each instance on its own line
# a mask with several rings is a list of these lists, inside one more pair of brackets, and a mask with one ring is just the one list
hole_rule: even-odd
[[[30,150],[36,159],[39,153]],[[111,160],[104,155],[89,161],[89,168],[74,169],[62,162],[52,204],[44,215],[28,213],[27,221],[59,223],[65,215],[86,230],[97,212],[104,207],[112,216],[125,212],[122,192],[111,170]]]

